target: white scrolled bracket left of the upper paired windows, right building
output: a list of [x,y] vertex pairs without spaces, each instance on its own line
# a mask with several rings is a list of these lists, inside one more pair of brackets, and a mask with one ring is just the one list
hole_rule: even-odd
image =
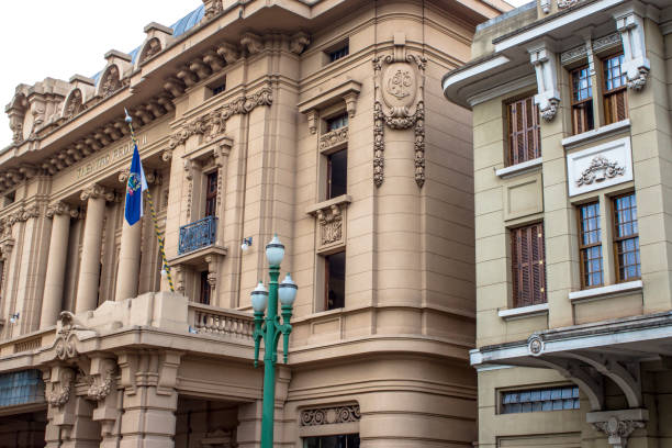
[[529,60],[535,66],[537,75],[537,91],[535,103],[539,105],[541,117],[551,121],[560,104],[558,91],[558,74],[556,70],[556,55],[546,48],[546,43],[529,49]]

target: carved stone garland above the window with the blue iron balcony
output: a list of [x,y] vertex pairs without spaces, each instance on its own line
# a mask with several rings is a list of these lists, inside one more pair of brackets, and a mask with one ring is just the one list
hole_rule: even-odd
[[226,131],[226,120],[232,115],[245,115],[259,105],[271,105],[272,101],[272,91],[268,87],[251,96],[240,96],[232,102],[187,123],[180,131],[172,134],[168,146],[173,149],[176,146],[184,144],[192,135],[204,135],[206,141],[211,141]]

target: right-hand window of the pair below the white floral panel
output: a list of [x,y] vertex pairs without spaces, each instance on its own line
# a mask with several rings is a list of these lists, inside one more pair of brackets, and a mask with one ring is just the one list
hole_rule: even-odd
[[614,254],[619,282],[641,278],[635,193],[614,198]]

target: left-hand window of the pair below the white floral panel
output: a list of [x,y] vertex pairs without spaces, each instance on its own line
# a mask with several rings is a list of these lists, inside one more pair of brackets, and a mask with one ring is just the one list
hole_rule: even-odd
[[579,251],[583,288],[604,283],[602,270],[602,236],[600,234],[600,203],[579,206]]

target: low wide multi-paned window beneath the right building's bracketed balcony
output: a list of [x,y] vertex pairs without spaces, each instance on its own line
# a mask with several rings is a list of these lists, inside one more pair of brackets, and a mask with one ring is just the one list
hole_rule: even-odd
[[503,391],[500,397],[500,414],[581,408],[579,388],[575,385]]

